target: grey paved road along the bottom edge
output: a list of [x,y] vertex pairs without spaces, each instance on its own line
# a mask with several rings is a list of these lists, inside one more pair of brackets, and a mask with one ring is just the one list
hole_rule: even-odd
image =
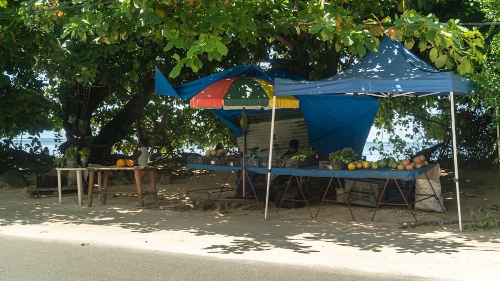
[[[265,253],[262,253],[265,254]],[[304,254],[307,258],[307,254]],[[0,235],[0,280],[423,280],[346,268],[270,263]],[[437,280],[437,279],[434,279]]]

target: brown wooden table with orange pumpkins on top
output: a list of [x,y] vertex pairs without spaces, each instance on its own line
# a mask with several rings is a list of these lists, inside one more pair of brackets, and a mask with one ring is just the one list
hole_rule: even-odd
[[[107,186],[108,186],[108,179],[109,179],[109,172],[113,170],[132,170],[135,176],[135,186],[137,187],[137,191],[107,191]],[[106,204],[106,195],[107,194],[128,194],[128,195],[137,195],[139,199],[139,205],[142,207],[144,206],[144,201],[143,197],[144,195],[153,195],[153,201],[154,203],[158,202],[158,196],[157,196],[157,191],[156,191],[156,182],[154,181],[154,171],[156,170],[155,167],[146,167],[146,166],[133,166],[133,167],[118,167],[118,166],[103,166],[103,167],[89,167],[88,172],[89,172],[89,177],[88,177],[88,206],[92,206],[92,195],[97,193],[97,194],[102,194],[102,204]],[[103,190],[99,190],[98,192],[93,191],[93,180],[94,180],[94,171],[97,172],[104,172],[104,180],[103,180]],[[150,192],[143,192],[142,187],[140,186],[140,171],[145,171],[147,173],[147,176],[149,177],[149,182],[151,184],[151,191]]]

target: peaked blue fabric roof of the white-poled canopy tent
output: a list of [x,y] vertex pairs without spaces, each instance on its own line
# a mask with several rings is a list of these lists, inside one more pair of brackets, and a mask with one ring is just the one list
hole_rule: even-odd
[[353,66],[318,81],[274,79],[275,95],[325,93],[404,93],[418,96],[466,94],[472,84],[453,72],[439,72],[404,48],[399,41],[384,36],[378,52],[366,54]]

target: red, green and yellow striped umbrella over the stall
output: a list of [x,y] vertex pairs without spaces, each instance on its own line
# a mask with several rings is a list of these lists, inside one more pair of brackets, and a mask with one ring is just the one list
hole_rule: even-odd
[[[274,85],[266,80],[238,76],[218,80],[193,96],[192,108],[271,109]],[[276,108],[298,108],[292,95],[276,96]]]

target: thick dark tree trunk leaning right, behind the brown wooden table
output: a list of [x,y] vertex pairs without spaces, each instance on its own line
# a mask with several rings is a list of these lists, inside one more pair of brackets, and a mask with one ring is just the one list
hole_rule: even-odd
[[140,115],[142,109],[152,98],[152,81],[137,88],[140,90],[128,100],[111,121],[101,128],[99,134],[93,139],[91,143],[92,155],[90,157],[92,163],[103,164],[109,159],[111,146],[132,132],[130,127],[135,118]]

